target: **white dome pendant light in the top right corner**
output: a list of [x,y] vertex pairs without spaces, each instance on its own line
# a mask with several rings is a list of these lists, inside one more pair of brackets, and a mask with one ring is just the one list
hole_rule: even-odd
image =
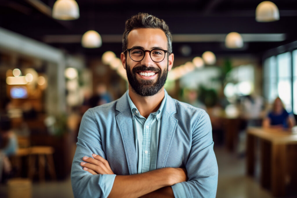
[[279,10],[271,1],[263,1],[256,8],[257,22],[271,22],[279,20]]

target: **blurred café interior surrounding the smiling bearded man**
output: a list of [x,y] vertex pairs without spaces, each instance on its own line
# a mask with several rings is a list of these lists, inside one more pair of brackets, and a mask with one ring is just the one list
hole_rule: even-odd
[[127,90],[138,12],[172,33],[168,94],[211,118],[217,197],[297,197],[295,0],[1,0],[0,197],[73,197],[81,117]]

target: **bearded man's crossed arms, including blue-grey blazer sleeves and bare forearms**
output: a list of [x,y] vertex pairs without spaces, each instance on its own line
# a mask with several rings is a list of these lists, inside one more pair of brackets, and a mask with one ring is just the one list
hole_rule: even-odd
[[[71,170],[75,197],[215,197],[217,162],[208,116],[201,116],[193,126],[191,150],[185,164],[187,171],[170,168],[174,167],[172,164],[175,160],[179,161],[184,155],[178,150],[178,153],[170,154],[166,168],[134,175],[129,175],[127,159],[121,150],[121,138],[116,139],[118,136],[109,132],[105,132],[108,137],[101,137],[105,134],[98,131],[105,127],[94,123],[95,117],[94,113],[88,111],[81,122]],[[110,136],[115,143],[108,145],[107,142],[110,141],[106,139]],[[184,140],[174,138],[173,147],[176,147],[176,142],[181,141]],[[93,156],[94,159],[89,157],[92,153],[97,154]],[[89,158],[83,159],[84,156]],[[83,161],[86,164],[81,164]],[[83,170],[83,167],[88,170]],[[113,174],[114,172],[119,174]],[[186,175],[189,179],[186,179]]]

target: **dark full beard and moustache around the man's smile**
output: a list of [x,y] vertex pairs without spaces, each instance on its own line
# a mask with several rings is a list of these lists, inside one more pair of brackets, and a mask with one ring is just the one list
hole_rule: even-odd
[[[157,81],[154,83],[154,80],[145,80],[145,79],[137,79],[136,71],[151,71],[158,73]],[[126,62],[126,72],[128,81],[132,87],[132,89],[140,96],[153,96],[160,91],[160,89],[164,86],[168,74],[168,65],[167,68],[161,74],[160,68],[155,67],[146,67],[146,66],[137,66],[130,70],[130,66],[127,65]]]

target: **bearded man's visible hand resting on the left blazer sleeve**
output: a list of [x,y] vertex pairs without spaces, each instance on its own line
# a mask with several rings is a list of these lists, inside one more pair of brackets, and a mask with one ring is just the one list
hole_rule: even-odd
[[86,170],[93,175],[114,174],[107,160],[96,154],[92,154],[92,156],[94,157],[94,159],[86,156],[83,157],[83,162],[80,163],[80,166],[83,167],[83,170]]

